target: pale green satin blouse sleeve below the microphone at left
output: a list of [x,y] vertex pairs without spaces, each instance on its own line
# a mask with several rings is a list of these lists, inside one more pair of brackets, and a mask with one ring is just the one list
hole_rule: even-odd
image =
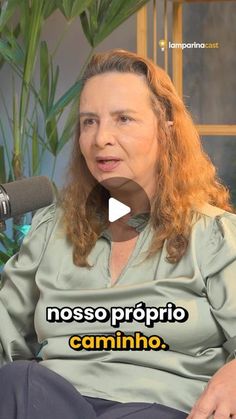
[[34,358],[40,345],[34,330],[39,298],[35,273],[50,235],[55,204],[40,209],[17,254],[6,263],[0,282],[0,366]]

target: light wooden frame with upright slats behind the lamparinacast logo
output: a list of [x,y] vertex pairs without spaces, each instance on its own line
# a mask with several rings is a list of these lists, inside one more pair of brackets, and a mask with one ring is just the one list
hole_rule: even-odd
[[[157,40],[156,40],[156,0],[153,0],[153,61],[156,63]],[[183,33],[183,3],[206,3],[212,1],[236,1],[236,0],[168,0],[173,4],[173,42],[182,43]],[[164,32],[167,42],[167,10],[165,0]],[[147,5],[137,12],[137,53],[147,57]],[[165,70],[168,72],[168,49],[165,50]],[[183,50],[174,48],[172,51],[173,84],[181,98],[183,98]],[[230,135],[236,136],[236,125],[197,125],[200,135]]]

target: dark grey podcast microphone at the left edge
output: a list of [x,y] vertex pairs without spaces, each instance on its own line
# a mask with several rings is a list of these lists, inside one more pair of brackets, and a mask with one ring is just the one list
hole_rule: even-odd
[[53,186],[46,176],[0,185],[0,221],[52,204]]

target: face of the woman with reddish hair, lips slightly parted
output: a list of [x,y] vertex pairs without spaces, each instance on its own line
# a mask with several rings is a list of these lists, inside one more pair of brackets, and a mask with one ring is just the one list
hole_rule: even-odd
[[142,77],[109,72],[89,79],[80,99],[80,148],[98,182],[124,177],[154,187],[157,119]]

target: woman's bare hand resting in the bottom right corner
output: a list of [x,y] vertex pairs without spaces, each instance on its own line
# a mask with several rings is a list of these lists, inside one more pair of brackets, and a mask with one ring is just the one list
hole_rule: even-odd
[[236,419],[236,359],[213,375],[187,419],[211,417]]

